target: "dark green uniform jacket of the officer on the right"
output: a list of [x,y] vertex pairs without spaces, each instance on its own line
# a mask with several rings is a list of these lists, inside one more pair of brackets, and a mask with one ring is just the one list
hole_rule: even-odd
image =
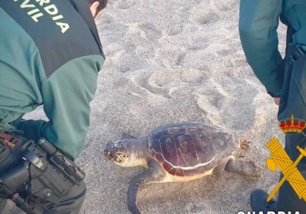
[[[295,31],[292,42],[306,45],[306,0],[241,0],[239,32],[247,62],[273,96],[282,93],[283,59],[278,20]],[[291,38],[290,38],[291,39]]]

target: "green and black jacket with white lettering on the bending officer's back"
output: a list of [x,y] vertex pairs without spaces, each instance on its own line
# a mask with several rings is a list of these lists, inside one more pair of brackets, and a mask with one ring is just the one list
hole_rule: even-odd
[[[74,159],[104,61],[87,2],[0,1],[0,29],[0,130],[44,137]],[[21,120],[39,105],[49,121]]]

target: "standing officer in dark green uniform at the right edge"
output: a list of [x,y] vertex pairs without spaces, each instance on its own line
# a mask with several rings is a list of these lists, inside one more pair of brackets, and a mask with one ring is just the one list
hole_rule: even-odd
[[[239,32],[247,62],[267,92],[279,104],[278,120],[291,117],[306,119],[306,1],[241,0]],[[288,26],[286,57],[278,51],[279,18]],[[305,133],[287,133],[285,150],[295,161],[297,146],[305,148]],[[297,166],[306,178],[306,158]],[[282,178],[282,176],[281,176]],[[250,196],[255,211],[299,211],[306,203],[299,199],[289,182],[279,190],[277,201],[266,202],[268,194],[254,190]]]

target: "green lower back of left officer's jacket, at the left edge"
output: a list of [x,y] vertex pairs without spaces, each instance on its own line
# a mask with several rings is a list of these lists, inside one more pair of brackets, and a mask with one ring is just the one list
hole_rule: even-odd
[[42,104],[45,74],[35,43],[2,8],[0,29],[0,130],[14,130],[24,113]]

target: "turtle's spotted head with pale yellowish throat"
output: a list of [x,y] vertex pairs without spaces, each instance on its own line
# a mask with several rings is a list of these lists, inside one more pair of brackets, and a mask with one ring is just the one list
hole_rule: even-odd
[[146,165],[143,154],[147,152],[142,141],[125,139],[108,143],[104,156],[121,167],[136,167]]

